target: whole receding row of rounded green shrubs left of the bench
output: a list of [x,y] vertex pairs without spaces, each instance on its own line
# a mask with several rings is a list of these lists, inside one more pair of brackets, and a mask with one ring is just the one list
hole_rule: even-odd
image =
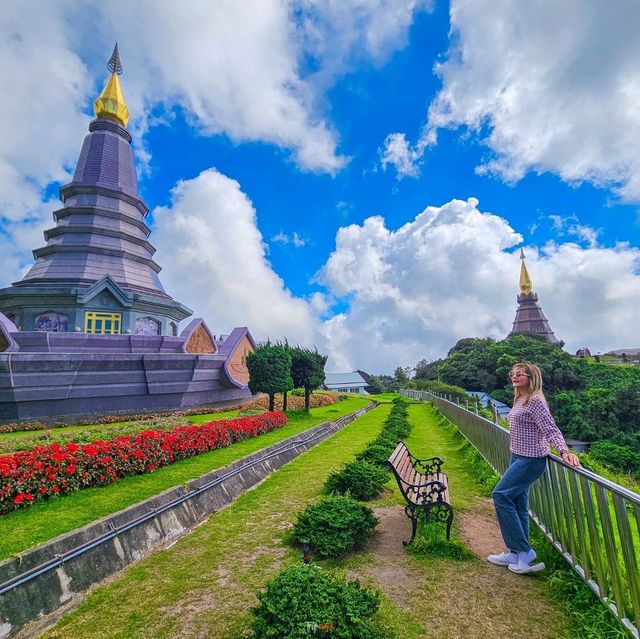
[[[375,497],[388,480],[381,467],[398,439],[411,426],[404,398],[394,400],[381,433],[358,458],[332,472],[324,486],[330,493],[298,514],[287,542],[309,542],[320,557],[343,557],[364,546],[378,523],[373,511],[359,500]],[[343,493],[343,494],[339,494]],[[382,639],[388,636],[375,621],[380,593],[347,582],[318,566],[298,565],[282,570],[258,594],[253,609],[255,639],[298,639],[320,632],[345,639]]]

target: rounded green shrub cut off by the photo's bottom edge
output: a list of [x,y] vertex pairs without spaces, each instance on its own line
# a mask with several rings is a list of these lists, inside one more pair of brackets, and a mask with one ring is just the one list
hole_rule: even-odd
[[380,607],[380,594],[320,570],[317,566],[285,568],[258,594],[253,609],[255,639],[383,639],[371,620]]

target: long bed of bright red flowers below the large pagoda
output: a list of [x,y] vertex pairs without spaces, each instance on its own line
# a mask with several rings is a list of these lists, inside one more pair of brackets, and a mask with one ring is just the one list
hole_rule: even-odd
[[105,486],[160,466],[280,428],[281,412],[219,420],[173,430],[146,430],[90,444],[52,444],[0,456],[0,514],[39,499]]

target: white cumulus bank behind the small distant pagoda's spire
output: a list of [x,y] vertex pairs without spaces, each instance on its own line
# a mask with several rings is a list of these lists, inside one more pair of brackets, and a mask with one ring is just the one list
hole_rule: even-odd
[[[427,207],[397,230],[382,217],[341,228],[320,279],[349,308],[323,325],[333,361],[388,372],[443,356],[462,337],[506,337],[522,236],[478,201]],[[569,350],[637,342],[640,250],[574,243],[527,247],[540,303]]]

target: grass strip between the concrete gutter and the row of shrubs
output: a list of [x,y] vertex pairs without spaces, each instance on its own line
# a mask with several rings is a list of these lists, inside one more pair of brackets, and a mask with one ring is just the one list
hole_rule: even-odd
[[91,593],[48,634],[74,637],[246,637],[256,593],[300,554],[282,545],[327,475],[380,431],[380,406],[274,472],[168,550]]

